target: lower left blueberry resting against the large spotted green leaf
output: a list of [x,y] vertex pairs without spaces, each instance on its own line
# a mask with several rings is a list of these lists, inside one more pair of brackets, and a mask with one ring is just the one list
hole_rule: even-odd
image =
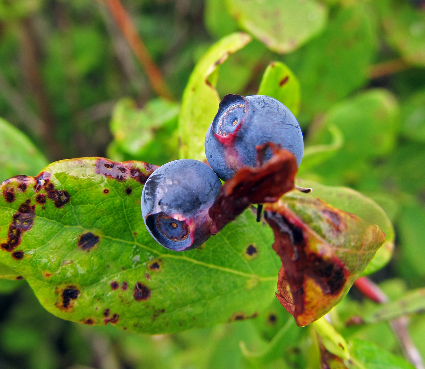
[[142,215],[151,236],[174,251],[190,250],[210,237],[208,210],[221,182],[201,161],[181,159],[156,169],[144,184]]

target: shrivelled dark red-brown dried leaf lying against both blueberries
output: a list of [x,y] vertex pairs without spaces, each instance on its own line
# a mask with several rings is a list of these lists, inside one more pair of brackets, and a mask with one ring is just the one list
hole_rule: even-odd
[[[280,149],[271,142],[256,147],[255,167],[245,166],[229,179],[210,208],[212,225],[210,231],[216,234],[250,205],[274,203],[294,188],[297,163],[292,152]],[[266,152],[272,151],[272,158],[263,163]]]

